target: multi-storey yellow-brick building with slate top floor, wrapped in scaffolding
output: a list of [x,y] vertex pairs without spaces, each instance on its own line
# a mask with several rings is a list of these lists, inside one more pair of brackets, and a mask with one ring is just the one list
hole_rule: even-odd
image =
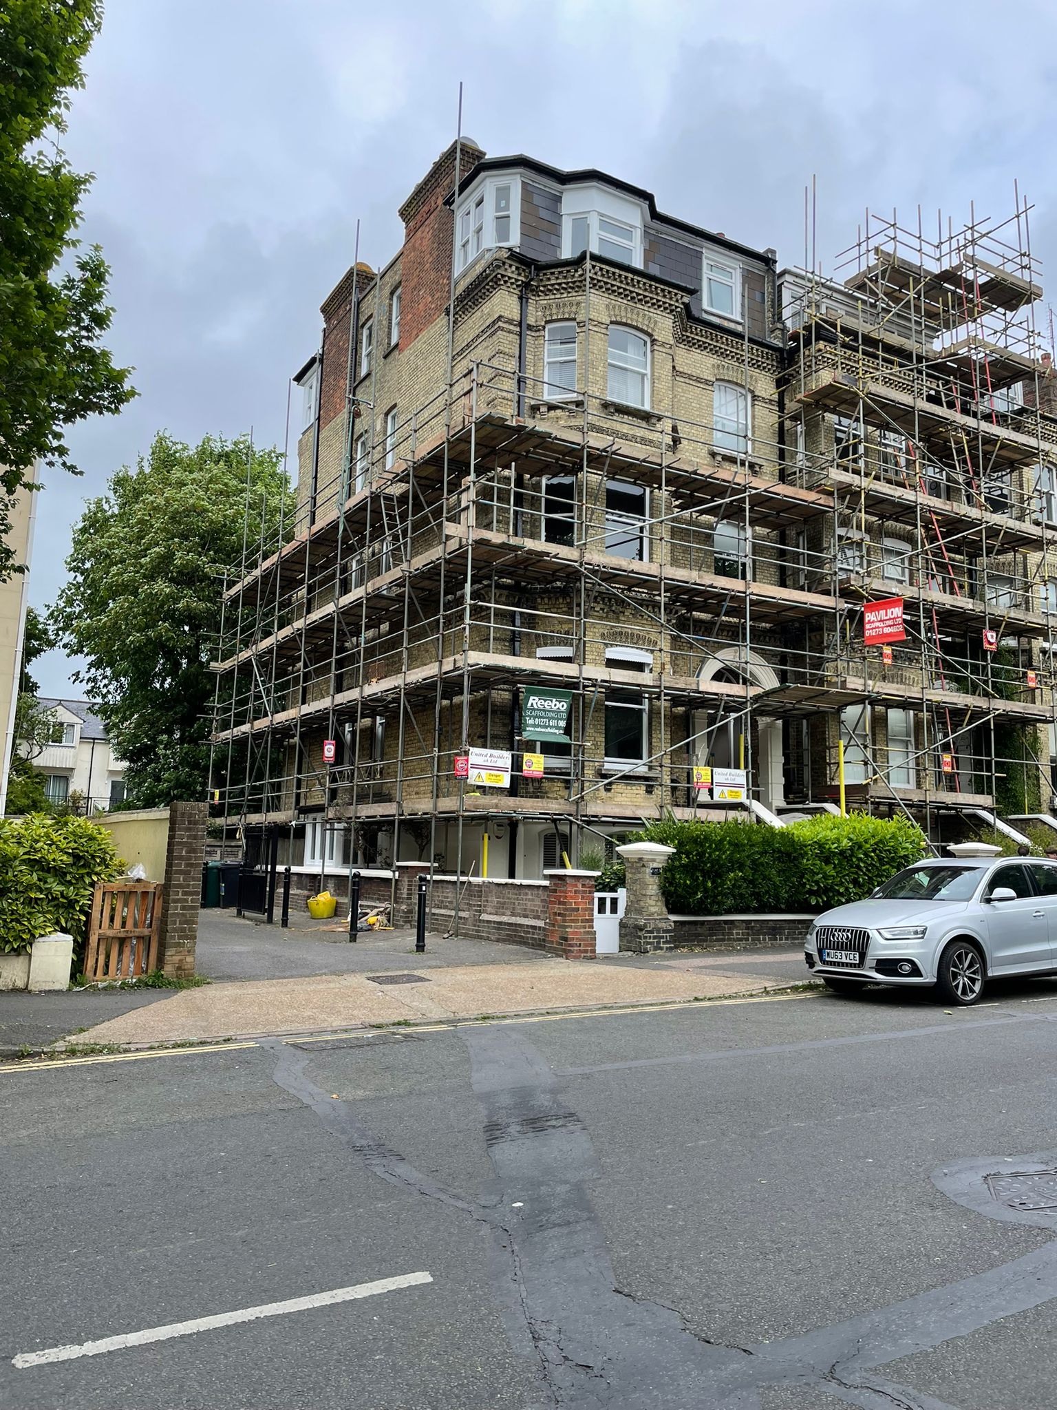
[[933,833],[1032,811],[1013,784],[1049,807],[1057,422],[1022,405],[1019,251],[912,269],[892,227],[847,283],[779,276],[468,141],[400,216],[295,379],[288,541],[225,591],[227,818],[311,867],[538,876],[669,811],[832,807],[841,744],[858,805]]

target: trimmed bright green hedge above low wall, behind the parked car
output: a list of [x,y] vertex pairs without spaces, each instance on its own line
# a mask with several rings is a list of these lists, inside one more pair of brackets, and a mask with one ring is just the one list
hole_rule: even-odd
[[926,850],[905,818],[867,814],[788,828],[665,819],[643,836],[675,847],[661,885],[676,915],[827,911],[868,895]]

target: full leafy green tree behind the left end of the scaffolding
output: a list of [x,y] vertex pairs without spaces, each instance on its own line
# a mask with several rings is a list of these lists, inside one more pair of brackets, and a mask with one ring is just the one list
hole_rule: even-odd
[[87,660],[73,678],[97,702],[137,807],[204,797],[221,575],[241,560],[244,532],[254,553],[261,537],[276,541],[292,502],[280,451],[245,437],[190,447],[161,431],[75,527],[51,622]]

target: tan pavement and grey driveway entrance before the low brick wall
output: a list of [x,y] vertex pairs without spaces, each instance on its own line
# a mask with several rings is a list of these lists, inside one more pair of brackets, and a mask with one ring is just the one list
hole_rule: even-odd
[[352,945],[340,925],[283,932],[209,911],[199,931],[197,969],[214,983],[107,1017],[78,1042],[152,1045],[691,1001],[762,993],[808,977],[802,956],[789,952],[753,955],[740,966],[736,955],[589,963],[428,936],[426,953],[416,955],[412,931],[369,933]]

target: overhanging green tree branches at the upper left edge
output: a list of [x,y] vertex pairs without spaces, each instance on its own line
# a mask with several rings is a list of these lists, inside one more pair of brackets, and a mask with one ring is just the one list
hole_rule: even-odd
[[100,0],[0,4],[0,578],[11,496],[42,460],[75,471],[65,427],[117,412],[135,393],[101,337],[113,310],[97,245],[72,257],[92,178],[56,144],[69,93],[101,23]]

